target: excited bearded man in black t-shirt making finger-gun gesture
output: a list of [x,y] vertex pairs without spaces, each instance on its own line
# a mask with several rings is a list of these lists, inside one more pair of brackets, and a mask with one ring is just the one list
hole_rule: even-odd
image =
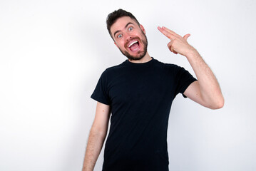
[[118,66],[106,69],[91,98],[98,101],[88,138],[83,171],[92,171],[108,130],[103,171],[167,171],[167,128],[170,107],[178,93],[207,108],[224,105],[213,72],[187,41],[165,27],[168,48],[185,56],[198,81],[184,68],[150,57],[145,29],[127,11],[108,15],[107,28],[121,53],[128,57]]

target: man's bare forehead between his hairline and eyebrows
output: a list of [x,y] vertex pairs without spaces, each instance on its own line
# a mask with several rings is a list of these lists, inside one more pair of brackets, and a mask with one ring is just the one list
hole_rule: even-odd
[[115,33],[116,31],[123,30],[126,27],[126,24],[132,23],[134,25],[138,25],[134,19],[131,19],[130,16],[122,16],[117,19],[116,22],[111,26],[111,33]]

